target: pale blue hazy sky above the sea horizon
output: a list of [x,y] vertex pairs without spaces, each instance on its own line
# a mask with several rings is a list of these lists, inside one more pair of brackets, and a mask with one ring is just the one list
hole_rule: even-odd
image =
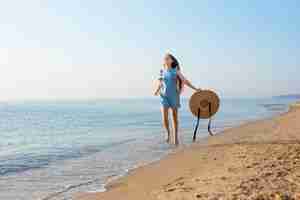
[[298,0],[1,1],[0,100],[149,97],[166,52],[194,85],[224,97],[299,93],[299,8]]

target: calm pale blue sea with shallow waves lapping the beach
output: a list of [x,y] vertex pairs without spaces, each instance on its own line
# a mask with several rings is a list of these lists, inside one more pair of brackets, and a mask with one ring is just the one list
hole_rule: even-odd
[[[287,111],[294,99],[225,99],[220,132]],[[180,109],[181,145],[195,118]],[[201,121],[198,138],[206,137]],[[105,183],[174,151],[164,143],[157,99],[0,103],[0,199],[62,200],[104,191]]]

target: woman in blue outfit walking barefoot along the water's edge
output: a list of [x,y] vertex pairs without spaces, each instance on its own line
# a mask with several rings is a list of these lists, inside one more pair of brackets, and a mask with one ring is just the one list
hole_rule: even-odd
[[160,94],[162,122],[168,134],[168,143],[170,143],[171,136],[169,110],[172,112],[175,145],[179,144],[178,108],[180,107],[180,93],[182,92],[184,85],[187,85],[196,91],[200,90],[194,87],[191,82],[182,75],[177,59],[171,54],[166,54],[164,58],[164,68],[160,72],[160,79],[154,94]]

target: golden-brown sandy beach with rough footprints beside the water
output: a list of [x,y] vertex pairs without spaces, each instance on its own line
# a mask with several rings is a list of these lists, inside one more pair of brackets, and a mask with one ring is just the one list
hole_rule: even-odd
[[300,106],[209,137],[78,200],[300,199]]

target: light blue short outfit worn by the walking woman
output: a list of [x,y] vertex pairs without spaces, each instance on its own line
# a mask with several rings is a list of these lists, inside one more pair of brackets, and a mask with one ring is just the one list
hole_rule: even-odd
[[177,69],[161,70],[162,89],[160,102],[165,108],[179,108],[180,98],[177,89]]

